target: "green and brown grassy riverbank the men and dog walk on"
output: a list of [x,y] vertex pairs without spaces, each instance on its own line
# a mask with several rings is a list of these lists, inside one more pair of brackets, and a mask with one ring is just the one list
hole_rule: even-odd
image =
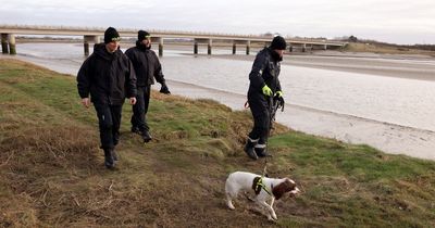
[[244,198],[234,212],[223,201],[231,172],[264,166],[241,150],[248,112],[152,93],[148,144],[130,113],[108,170],[75,78],[0,60],[0,227],[435,227],[434,162],[278,126],[269,174],[303,193],[277,202],[271,224]]

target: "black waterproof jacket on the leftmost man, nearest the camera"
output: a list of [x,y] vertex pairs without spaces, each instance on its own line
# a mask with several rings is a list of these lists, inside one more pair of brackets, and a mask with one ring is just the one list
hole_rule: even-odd
[[77,89],[80,98],[90,93],[94,103],[120,105],[125,97],[136,97],[136,75],[120,49],[109,53],[104,43],[96,43],[78,71]]

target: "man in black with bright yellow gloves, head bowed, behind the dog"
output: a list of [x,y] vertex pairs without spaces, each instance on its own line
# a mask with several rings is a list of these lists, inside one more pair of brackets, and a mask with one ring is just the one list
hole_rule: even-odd
[[273,38],[271,46],[257,54],[249,74],[248,103],[253,116],[253,128],[248,135],[244,150],[253,160],[269,155],[265,147],[273,99],[284,103],[278,75],[286,46],[283,37]]

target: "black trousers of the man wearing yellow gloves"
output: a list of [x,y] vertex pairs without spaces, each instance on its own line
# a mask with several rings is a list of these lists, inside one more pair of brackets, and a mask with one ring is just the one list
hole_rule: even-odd
[[248,94],[248,103],[253,117],[253,127],[248,136],[252,140],[259,140],[258,144],[265,144],[271,124],[268,100],[261,93],[253,93]]

